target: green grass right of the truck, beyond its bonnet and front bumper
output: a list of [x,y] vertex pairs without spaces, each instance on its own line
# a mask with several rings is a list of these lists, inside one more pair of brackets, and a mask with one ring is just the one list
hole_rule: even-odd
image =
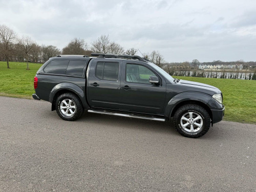
[[224,120],[256,124],[256,80],[178,77],[219,88],[225,105]]

